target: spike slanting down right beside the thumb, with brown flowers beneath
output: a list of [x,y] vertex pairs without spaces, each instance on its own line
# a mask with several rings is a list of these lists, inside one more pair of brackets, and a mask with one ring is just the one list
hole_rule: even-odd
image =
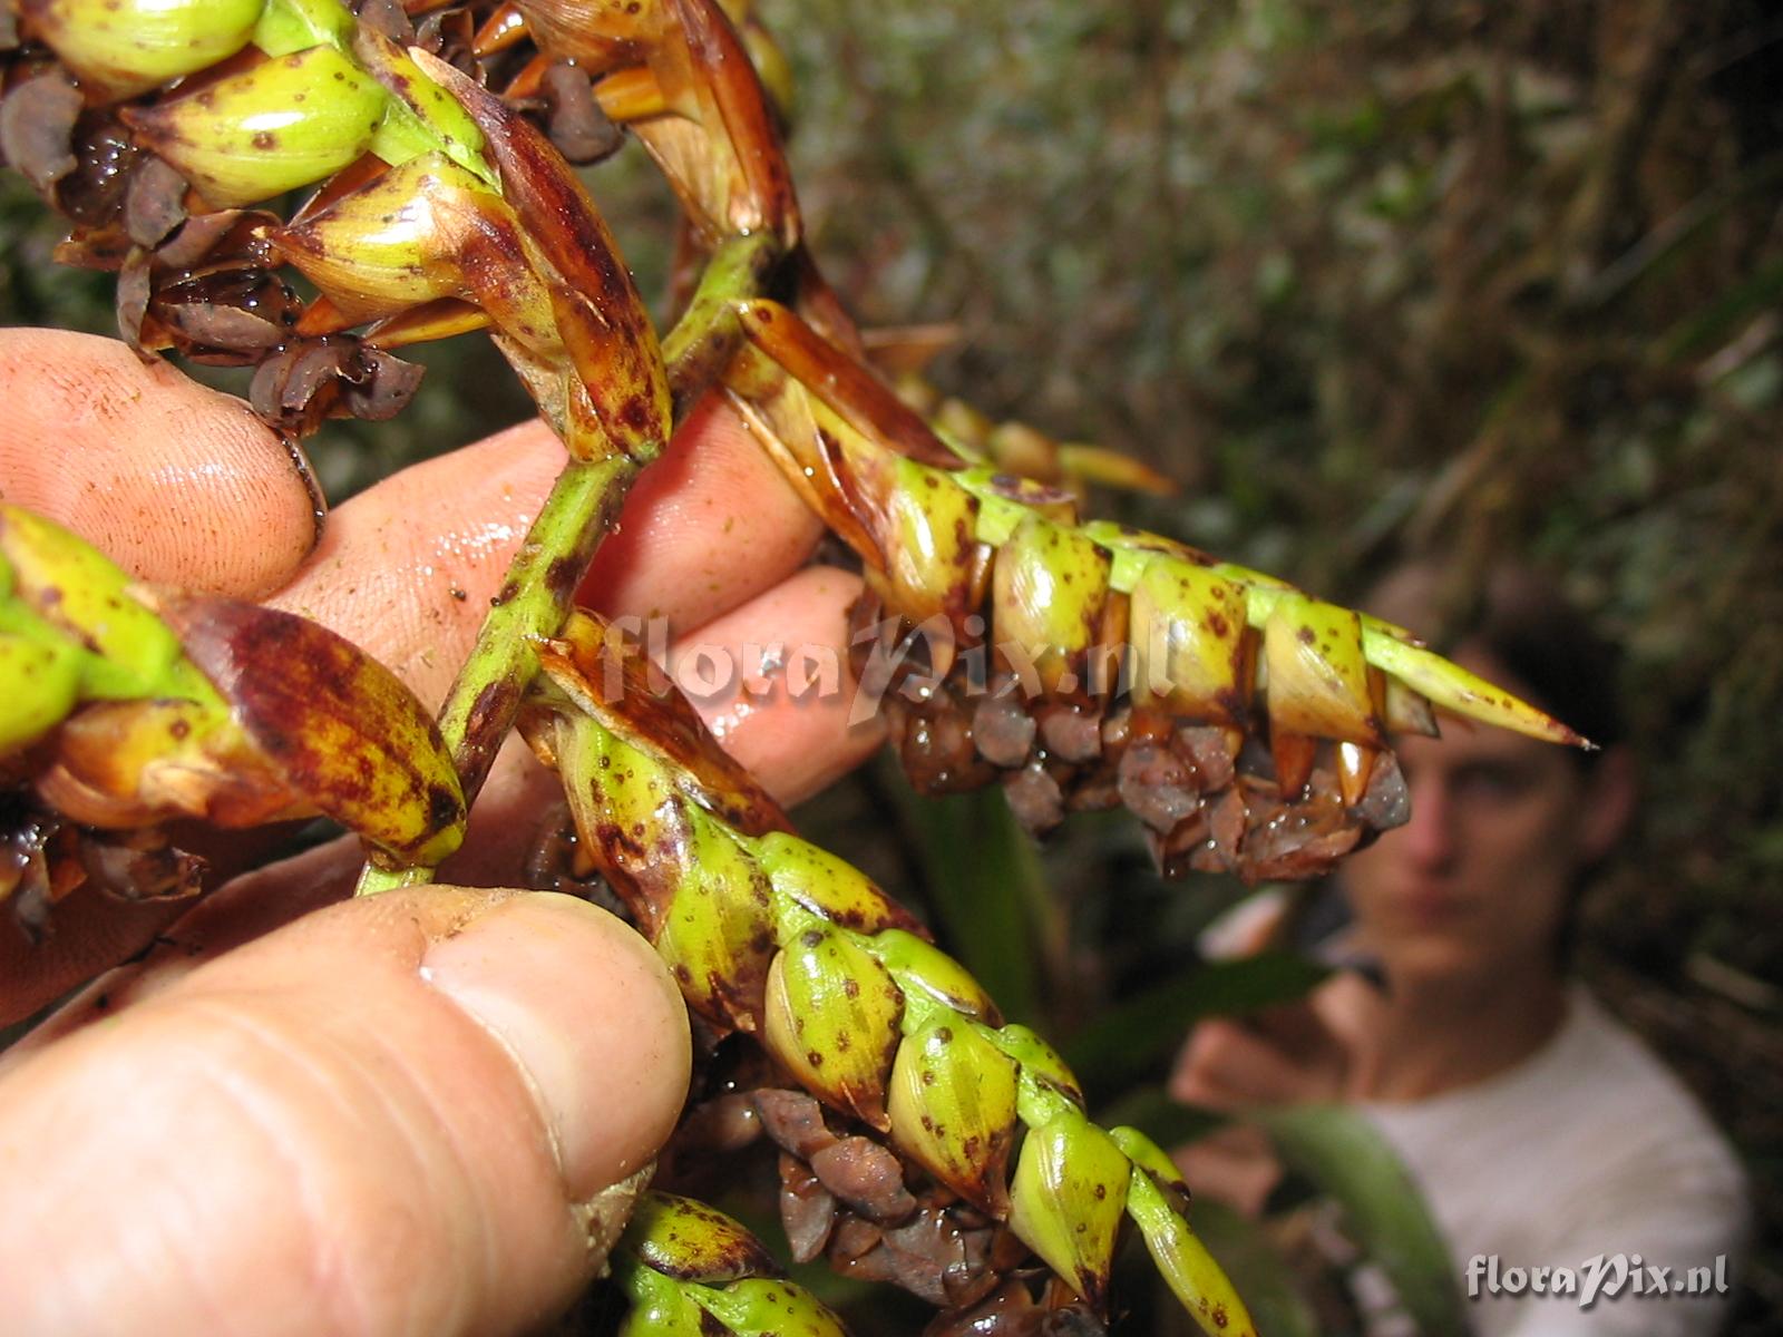
[[[1032,1250],[1100,1314],[1127,1216],[1193,1312],[1239,1319],[1184,1225],[1170,1159],[1134,1128],[1091,1123],[1064,1061],[1004,1025],[865,875],[792,834],[685,701],[649,693],[635,658],[617,665],[626,690],[608,693],[619,649],[596,619],[572,615],[542,649],[551,688],[522,729],[695,1013],[719,1034],[754,1034],[842,1116],[838,1134],[809,1096],[749,1096],[783,1150],[795,1257],[827,1253],[847,1273],[968,1310],[965,1328]],[[934,1189],[911,1193],[899,1157]]]

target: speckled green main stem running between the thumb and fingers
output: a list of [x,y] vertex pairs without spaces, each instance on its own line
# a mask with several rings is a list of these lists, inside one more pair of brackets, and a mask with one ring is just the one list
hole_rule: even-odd
[[[731,237],[713,251],[694,299],[663,339],[678,426],[736,351],[742,332],[731,305],[760,292],[777,258],[777,246],[767,235]],[[440,736],[458,767],[467,806],[483,788],[538,672],[533,642],[555,636],[563,626],[594,551],[619,517],[642,467],[622,453],[571,460],[514,556],[506,583],[490,601],[471,658],[440,708]],[[367,863],[355,895],[431,881],[433,868]]]

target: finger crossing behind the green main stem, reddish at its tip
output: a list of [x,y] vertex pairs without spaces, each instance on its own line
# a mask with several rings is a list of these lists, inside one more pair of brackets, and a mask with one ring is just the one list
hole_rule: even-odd
[[[371,651],[433,704],[563,460],[530,421],[412,465],[335,510],[273,603]],[[795,572],[820,533],[736,415],[708,401],[633,485],[579,597],[695,627]]]

